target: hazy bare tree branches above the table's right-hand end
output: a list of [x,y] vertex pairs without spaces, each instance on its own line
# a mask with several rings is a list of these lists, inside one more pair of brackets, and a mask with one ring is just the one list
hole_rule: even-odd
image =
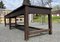
[[49,5],[51,6],[52,0],[30,0],[31,5],[39,5],[39,6],[45,6]]

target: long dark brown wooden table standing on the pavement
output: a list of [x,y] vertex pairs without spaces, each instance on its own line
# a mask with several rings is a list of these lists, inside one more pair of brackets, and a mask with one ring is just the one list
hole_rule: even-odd
[[[11,18],[15,18],[15,26],[16,26],[16,17],[19,15],[24,15],[24,33],[25,33],[25,40],[29,39],[29,35],[34,33],[40,33],[48,31],[49,34],[52,34],[52,17],[51,17],[51,9],[47,7],[40,7],[40,6],[32,6],[29,3],[29,0],[24,0],[23,5],[16,10],[12,11],[11,13],[5,15],[5,25],[6,25],[6,18],[9,18],[9,28],[11,29]],[[29,18],[28,14],[43,14],[48,15],[48,29],[36,29],[36,31],[29,31]]]

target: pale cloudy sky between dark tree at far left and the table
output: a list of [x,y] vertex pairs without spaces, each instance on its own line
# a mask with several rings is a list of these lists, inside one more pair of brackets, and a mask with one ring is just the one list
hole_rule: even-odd
[[3,0],[7,9],[14,10],[22,5],[23,0]]

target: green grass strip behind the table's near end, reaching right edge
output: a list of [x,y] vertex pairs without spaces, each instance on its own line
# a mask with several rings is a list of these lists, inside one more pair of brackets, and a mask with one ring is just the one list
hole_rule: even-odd
[[[44,18],[43,18],[44,19]],[[34,22],[42,22],[42,17],[35,16],[33,19]],[[45,22],[48,22],[48,17],[45,17]],[[53,23],[60,23],[60,16],[52,16],[52,22]]]

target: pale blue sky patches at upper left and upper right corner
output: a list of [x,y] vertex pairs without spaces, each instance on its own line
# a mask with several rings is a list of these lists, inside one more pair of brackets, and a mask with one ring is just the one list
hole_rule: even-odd
[[[1,1],[1,0],[0,0]],[[22,5],[23,0],[2,0],[6,8],[9,10],[14,10]],[[52,6],[59,5],[60,0],[52,0]]]

